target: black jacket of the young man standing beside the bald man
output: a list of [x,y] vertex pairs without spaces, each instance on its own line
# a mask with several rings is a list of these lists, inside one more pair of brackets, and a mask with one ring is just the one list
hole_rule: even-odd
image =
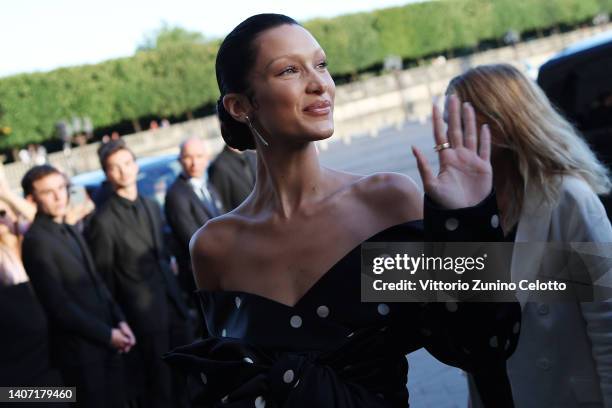
[[98,272],[130,326],[143,334],[168,330],[169,307],[184,318],[188,310],[170,270],[161,210],[156,202],[140,198],[150,223],[146,237],[126,227],[129,212],[116,194],[93,215],[86,236]]

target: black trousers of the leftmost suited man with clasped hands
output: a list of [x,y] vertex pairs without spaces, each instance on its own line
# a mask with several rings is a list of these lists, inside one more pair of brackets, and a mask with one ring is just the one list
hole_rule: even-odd
[[[60,369],[64,386],[76,387],[76,405],[82,408],[122,408],[125,403],[123,361],[119,354],[106,361]],[[70,404],[70,406],[73,406]]]

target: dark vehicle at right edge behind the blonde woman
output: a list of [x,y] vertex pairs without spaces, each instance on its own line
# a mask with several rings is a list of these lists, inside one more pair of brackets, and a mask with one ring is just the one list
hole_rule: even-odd
[[[540,67],[538,84],[612,169],[612,31],[555,55]],[[612,219],[612,195],[602,201]]]

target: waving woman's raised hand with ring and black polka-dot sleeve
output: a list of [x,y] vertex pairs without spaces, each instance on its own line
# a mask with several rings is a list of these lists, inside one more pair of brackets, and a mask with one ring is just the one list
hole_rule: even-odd
[[[503,239],[492,194],[491,135],[480,134],[469,104],[450,97],[448,130],[437,107],[433,127],[440,169],[434,175],[425,156],[413,147],[426,200],[425,238],[436,242],[496,242]],[[464,126],[462,127],[462,122]],[[440,361],[474,375],[487,407],[512,407],[506,359],[518,342],[521,311],[511,303],[426,303],[422,334],[427,350]]]

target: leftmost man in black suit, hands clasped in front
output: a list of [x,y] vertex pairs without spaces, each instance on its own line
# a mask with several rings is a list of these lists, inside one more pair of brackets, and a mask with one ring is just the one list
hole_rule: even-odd
[[134,335],[98,276],[80,233],[64,224],[66,177],[49,165],[30,169],[21,182],[37,214],[23,241],[23,262],[49,319],[51,361],[83,407],[124,403],[119,352]]

